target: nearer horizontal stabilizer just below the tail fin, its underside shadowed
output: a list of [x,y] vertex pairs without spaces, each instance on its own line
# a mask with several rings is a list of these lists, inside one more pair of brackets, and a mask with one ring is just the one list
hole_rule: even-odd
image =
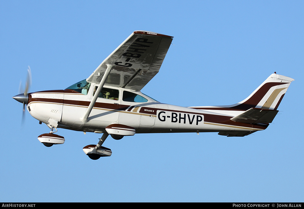
[[271,123],[275,116],[277,115],[278,110],[269,110],[261,108],[250,108],[244,113],[237,115],[230,120],[241,123]]

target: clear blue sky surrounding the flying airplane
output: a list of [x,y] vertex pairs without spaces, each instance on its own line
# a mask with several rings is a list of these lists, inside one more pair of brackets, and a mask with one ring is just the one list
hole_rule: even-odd
[[[303,1],[0,2],[1,202],[303,202]],[[174,36],[142,89],[163,103],[231,105],[270,74],[292,77],[273,123],[242,138],[217,133],[108,138],[112,156],[82,148],[100,134],[50,129],[12,99],[87,78],[135,30]],[[181,99],[188,95],[189,100]]]

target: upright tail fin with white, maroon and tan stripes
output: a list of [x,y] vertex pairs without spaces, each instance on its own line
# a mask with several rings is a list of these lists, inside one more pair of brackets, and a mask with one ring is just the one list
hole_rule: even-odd
[[271,74],[249,97],[243,101],[226,106],[191,107],[202,110],[247,111],[250,108],[276,110],[294,79],[276,73]]

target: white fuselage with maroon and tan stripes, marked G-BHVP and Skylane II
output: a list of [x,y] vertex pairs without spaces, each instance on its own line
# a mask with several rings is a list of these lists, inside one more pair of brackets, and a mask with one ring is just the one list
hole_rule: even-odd
[[[94,87],[94,86],[93,86]],[[257,131],[265,127],[233,122],[228,111],[216,113],[195,108],[163,104],[140,91],[116,88],[115,100],[98,98],[88,120],[81,122],[92,100],[93,87],[81,94],[72,90],[41,91],[30,94],[27,109],[37,120],[49,126],[83,132],[105,132],[105,127],[117,123],[135,128],[136,133]],[[105,86],[106,87],[106,86]],[[113,89],[113,87],[111,87]],[[123,91],[134,92],[146,102],[123,100]],[[235,114],[235,113],[233,113]]]

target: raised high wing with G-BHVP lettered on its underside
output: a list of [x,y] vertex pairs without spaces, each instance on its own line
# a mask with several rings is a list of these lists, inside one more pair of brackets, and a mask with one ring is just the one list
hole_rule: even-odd
[[112,65],[106,85],[140,91],[159,71],[172,36],[134,31],[87,78],[99,84],[107,64]]

